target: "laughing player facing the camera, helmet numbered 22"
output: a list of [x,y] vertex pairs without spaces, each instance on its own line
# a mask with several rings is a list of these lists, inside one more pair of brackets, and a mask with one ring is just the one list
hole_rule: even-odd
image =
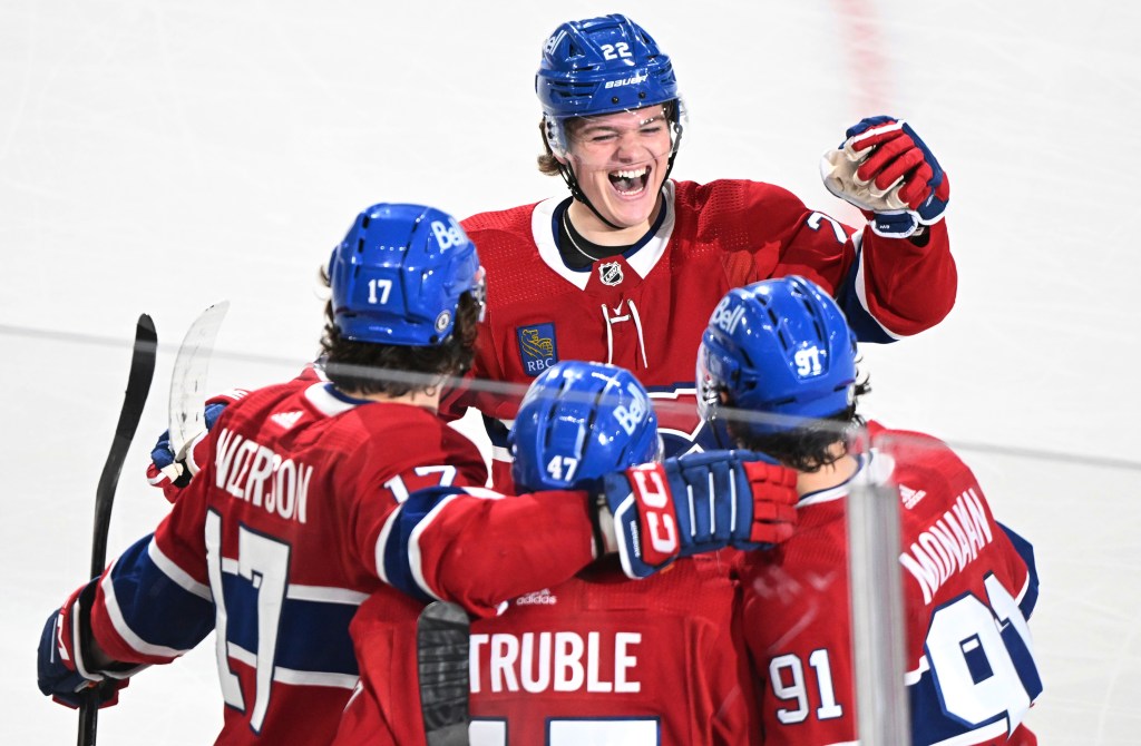
[[[823,161],[827,187],[871,220],[853,229],[771,184],[670,180],[686,127],[674,67],[624,16],[556,29],[535,90],[539,168],[560,175],[570,196],[463,221],[489,273],[475,379],[527,383],[560,359],[621,365],[659,405],[671,455],[702,440],[695,355],[730,287],[804,275],[874,342],[921,332],[950,310],[949,183],[905,122],[864,120]],[[518,398],[478,384],[445,397],[450,416],[468,406],[484,414],[492,476],[507,488],[504,439]]]

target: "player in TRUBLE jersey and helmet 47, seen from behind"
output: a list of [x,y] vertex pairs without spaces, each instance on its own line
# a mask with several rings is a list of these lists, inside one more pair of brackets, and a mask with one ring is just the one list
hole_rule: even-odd
[[[510,440],[515,484],[525,490],[589,487],[653,460],[661,447],[648,395],[629,371],[568,360],[531,386]],[[786,538],[792,528],[783,521],[793,512],[791,502],[775,505],[778,522],[766,538]],[[729,530],[728,516],[715,519]],[[476,621],[471,743],[759,743],[730,561],[705,559],[680,559],[637,583],[624,582],[615,558],[605,559]],[[373,598],[354,618],[362,690],[346,708],[338,744],[424,743],[419,719],[408,716],[421,711],[411,643],[418,610],[408,602],[394,614],[389,599]]]

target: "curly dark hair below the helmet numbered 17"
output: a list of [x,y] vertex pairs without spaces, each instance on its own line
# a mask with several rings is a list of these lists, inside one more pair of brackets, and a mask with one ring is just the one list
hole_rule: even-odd
[[333,305],[326,303],[321,339],[325,375],[347,394],[432,395],[440,379],[462,375],[471,367],[479,310],[479,301],[463,293],[452,334],[439,344],[415,347],[345,339],[333,321]]

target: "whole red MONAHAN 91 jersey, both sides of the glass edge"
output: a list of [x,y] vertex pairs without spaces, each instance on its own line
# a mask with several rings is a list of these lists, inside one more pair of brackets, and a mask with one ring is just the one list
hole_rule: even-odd
[[[1030,545],[995,521],[971,471],[942,443],[872,423],[861,469],[900,496],[906,684],[916,745],[1033,745],[1022,717],[1042,691],[1027,619]],[[802,496],[793,537],[743,556],[744,634],[766,744],[857,737],[848,485]]]

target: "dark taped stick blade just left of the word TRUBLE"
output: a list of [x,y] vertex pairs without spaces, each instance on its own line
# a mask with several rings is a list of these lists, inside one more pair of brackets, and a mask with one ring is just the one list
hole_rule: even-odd
[[428,746],[468,744],[470,622],[455,603],[435,601],[416,623],[420,709]]

